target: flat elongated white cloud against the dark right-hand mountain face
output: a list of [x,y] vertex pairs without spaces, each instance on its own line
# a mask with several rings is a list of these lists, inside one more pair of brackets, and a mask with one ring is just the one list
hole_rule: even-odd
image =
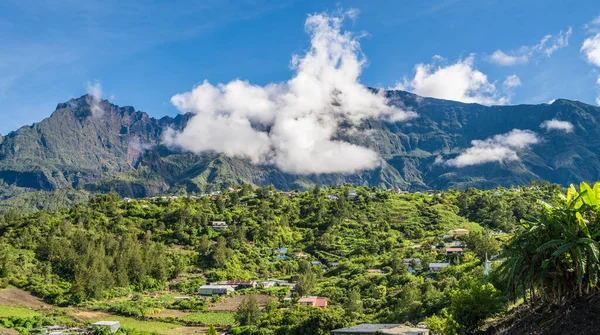
[[447,165],[465,167],[490,162],[519,160],[517,150],[526,149],[540,142],[531,130],[513,129],[506,134],[495,135],[485,140],[471,141],[471,147],[460,155],[446,161]]

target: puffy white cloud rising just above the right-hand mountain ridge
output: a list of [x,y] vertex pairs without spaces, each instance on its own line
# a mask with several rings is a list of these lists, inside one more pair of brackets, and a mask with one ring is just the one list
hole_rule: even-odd
[[484,105],[502,105],[509,101],[501,96],[494,83],[487,76],[474,68],[475,55],[458,60],[454,64],[436,64],[442,62],[441,57],[434,57],[432,64],[417,64],[415,77],[404,78],[396,83],[395,89],[408,90],[418,95],[439,99],[456,100],[466,103]]

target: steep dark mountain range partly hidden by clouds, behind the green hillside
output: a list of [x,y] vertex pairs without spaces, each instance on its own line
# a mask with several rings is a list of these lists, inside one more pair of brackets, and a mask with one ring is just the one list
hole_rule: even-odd
[[[47,119],[25,126],[0,144],[0,196],[59,188],[117,191],[123,196],[197,193],[249,182],[280,189],[314,183],[353,183],[410,190],[469,186],[494,187],[546,179],[568,184],[600,179],[600,108],[576,101],[553,104],[492,106],[422,98],[388,91],[390,103],[419,114],[406,123],[368,120],[368,136],[340,134],[352,143],[374,148],[381,166],[351,175],[291,175],[272,166],[253,166],[215,153],[194,155],[166,148],[163,132],[181,129],[190,115],[154,119],[133,107],[101,101],[94,115],[89,96],[57,106]],[[546,132],[540,124],[557,118],[574,132]],[[519,151],[520,160],[470,167],[436,163],[468,148],[472,140],[511,131],[538,132],[542,142]]]

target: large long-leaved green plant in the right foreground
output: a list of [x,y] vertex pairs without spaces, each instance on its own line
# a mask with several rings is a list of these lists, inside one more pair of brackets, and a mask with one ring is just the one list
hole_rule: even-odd
[[540,216],[524,221],[502,265],[514,299],[564,304],[597,291],[600,271],[600,183],[573,186]]

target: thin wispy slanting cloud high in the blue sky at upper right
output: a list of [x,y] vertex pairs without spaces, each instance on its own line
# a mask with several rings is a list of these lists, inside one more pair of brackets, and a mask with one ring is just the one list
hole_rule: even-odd
[[546,35],[542,37],[540,42],[535,45],[522,46],[508,53],[496,50],[488,57],[488,60],[501,66],[513,66],[529,63],[531,58],[538,54],[545,54],[547,57],[550,57],[557,50],[569,45],[569,37],[571,37],[572,33],[573,29],[569,27],[567,31],[561,30],[556,36]]

